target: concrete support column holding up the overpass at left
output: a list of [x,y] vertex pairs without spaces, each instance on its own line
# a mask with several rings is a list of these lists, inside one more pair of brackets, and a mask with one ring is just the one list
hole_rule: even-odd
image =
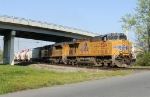
[[16,31],[4,35],[3,64],[14,65],[14,37]]

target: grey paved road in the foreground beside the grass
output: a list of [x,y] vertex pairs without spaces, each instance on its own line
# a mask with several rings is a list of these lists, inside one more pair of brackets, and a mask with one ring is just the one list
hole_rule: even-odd
[[1,95],[0,97],[150,97],[150,71],[26,90]]

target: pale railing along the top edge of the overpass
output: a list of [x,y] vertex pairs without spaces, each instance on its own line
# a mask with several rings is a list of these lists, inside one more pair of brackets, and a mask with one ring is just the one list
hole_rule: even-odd
[[49,24],[46,22],[40,22],[40,21],[35,21],[35,20],[30,20],[30,19],[28,20],[28,19],[24,19],[24,18],[11,17],[11,16],[7,16],[7,15],[0,16],[0,22],[13,23],[13,24],[32,26],[32,27],[39,27],[39,28],[46,28],[46,29],[54,29],[54,30],[60,30],[60,31],[65,31],[65,32],[86,35],[86,36],[98,36],[98,34],[75,29],[75,28],[70,28],[70,27],[65,27],[65,26],[55,25],[55,24]]

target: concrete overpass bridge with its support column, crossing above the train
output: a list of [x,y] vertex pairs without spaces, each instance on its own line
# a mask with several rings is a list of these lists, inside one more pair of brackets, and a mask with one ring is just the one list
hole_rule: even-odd
[[14,37],[63,42],[97,36],[87,31],[24,18],[0,16],[0,35],[4,36],[3,63],[14,64]]

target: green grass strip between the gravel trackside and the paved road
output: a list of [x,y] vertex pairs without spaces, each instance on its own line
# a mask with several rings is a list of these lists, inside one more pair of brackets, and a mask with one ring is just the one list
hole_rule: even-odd
[[110,76],[128,75],[133,71],[113,72],[55,72],[30,67],[0,65],[0,94],[63,85]]

